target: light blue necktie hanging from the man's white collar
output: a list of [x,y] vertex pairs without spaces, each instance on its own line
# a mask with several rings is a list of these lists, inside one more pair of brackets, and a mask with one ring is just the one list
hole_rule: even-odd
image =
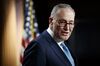
[[66,57],[68,58],[68,60],[70,61],[70,63],[72,64],[72,66],[75,66],[74,64],[74,60],[71,56],[70,51],[68,50],[67,46],[64,43],[61,43],[60,46],[62,47],[63,52],[65,53]]

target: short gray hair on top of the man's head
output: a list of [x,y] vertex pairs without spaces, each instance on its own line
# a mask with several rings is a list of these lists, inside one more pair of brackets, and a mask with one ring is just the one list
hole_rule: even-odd
[[75,11],[71,7],[71,5],[69,5],[69,4],[58,4],[58,5],[53,7],[50,17],[54,17],[56,15],[57,10],[60,9],[60,8],[68,8],[68,9],[71,9],[73,11],[73,13],[75,13]]

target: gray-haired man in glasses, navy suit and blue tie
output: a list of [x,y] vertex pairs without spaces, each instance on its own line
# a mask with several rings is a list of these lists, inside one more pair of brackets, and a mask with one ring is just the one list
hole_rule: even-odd
[[74,18],[75,12],[70,5],[56,5],[48,29],[26,48],[23,66],[76,66],[68,43],[64,42],[73,31]]

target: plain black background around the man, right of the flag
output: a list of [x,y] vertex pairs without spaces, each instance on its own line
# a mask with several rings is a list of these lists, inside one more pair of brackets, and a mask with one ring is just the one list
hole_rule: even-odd
[[76,26],[70,41],[79,66],[100,66],[100,7],[99,1],[89,0],[33,0],[40,33],[48,27],[54,5],[70,4],[76,12]]

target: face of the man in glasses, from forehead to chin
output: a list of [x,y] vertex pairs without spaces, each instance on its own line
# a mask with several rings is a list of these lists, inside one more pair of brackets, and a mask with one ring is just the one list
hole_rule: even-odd
[[75,14],[72,10],[65,8],[59,9],[52,20],[54,37],[59,40],[67,40],[74,28],[74,17]]

